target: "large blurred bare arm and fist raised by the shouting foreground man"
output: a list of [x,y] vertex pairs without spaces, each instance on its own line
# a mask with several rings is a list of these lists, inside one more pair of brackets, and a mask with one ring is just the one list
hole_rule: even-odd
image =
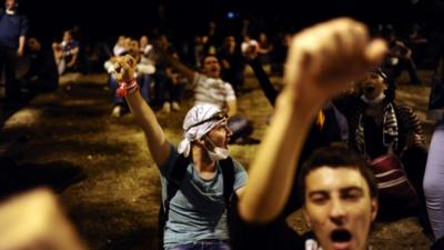
[[[323,103],[379,64],[385,52],[366,28],[336,19],[293,38],[286,60],[285,88],[276,100],[273,122],[250,170],[239,203],[245,221],[266,223],[284,208],[302,146]],[[292,134],[289,137],[289,134]]]

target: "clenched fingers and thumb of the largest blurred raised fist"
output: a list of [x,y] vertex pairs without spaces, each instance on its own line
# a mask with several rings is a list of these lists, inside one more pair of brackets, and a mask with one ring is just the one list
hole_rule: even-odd
[[[293,38],[287,81],[350,82],[381,63],[386,46],[371,40],[366,27],[349,18],[303,30]],[[312,79],[305,79],[312,78]]]

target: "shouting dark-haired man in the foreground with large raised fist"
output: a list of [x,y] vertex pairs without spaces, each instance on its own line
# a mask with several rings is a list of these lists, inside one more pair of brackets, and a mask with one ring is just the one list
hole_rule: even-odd
[[315,239],[305,240],[280,214],[319,110],[379,64],[385,49],[383,41],[369,38],[364,24],[346,18],[304,29],[293,38],[285,87],[234,207],[233,249],[367,249],[379,208],[377,188],[365,160],[345,148],[324,148],[302,169],[299,190]]

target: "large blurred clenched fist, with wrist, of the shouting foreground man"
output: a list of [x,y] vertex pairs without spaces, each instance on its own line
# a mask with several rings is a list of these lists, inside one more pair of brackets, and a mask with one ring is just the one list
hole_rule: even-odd
[[371,40],[366,27],[352,19],[316,24],[291,42],[285,90],[307,107],[320,107],[380,64],[385,52],[385,42]]

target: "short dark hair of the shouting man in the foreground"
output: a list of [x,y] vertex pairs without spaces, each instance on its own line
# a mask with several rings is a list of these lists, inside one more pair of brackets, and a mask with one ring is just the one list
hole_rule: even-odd
[[331,146],[315,150],[302,166],[301,174],[297,181],[297,190],[302,203],[305,202],[306,176],[321,167],[357,170],[369,186],[370,196],[372,198],[377,198],[376,180],[367,161],[352,149],[342,146]]

